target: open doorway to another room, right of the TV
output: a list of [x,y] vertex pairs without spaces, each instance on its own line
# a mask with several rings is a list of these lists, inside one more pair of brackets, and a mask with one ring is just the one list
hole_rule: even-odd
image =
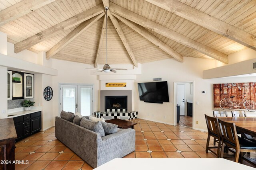
[[174,125],[193,127],[194,82],[174,82]]

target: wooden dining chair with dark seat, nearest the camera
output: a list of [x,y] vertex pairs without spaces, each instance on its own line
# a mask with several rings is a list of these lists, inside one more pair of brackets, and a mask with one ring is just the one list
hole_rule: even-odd
[[238,162],[238,159],[240,157],[241,163],[244,159],[247,162],[249,162],[250,164],[256,166],[256,164],[254,164],[247,158],[244,158],[244,154],[246,152],[256,152],[256,143],[254,143],[248,139],[239,137],[236,133],[235,123],[228,123],[228,122],[218,119],[218,124],[219,124],[218,131],[220,131],[222,129],[222,133],[223,133],[220,158],[223,158],[224,147],[225,147],[225,145],[227,145],[228,147],[236,150],[235,162]]

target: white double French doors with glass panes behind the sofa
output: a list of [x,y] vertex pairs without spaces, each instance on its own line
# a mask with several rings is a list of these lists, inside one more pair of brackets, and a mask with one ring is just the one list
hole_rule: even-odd
[[83,116],[92,115],[92,85],[60,84],[60,111],[81,113]]

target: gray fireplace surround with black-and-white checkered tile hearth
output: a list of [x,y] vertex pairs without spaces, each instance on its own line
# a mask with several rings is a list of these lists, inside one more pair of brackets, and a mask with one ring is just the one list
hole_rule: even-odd
[[[127,96],[127,108],[107,109],[105,108],[106,96]],[[105,119],[134,119],[138,112],[132,111],[132,90],[100,90],[100,111],[94,112],[96,117]]]

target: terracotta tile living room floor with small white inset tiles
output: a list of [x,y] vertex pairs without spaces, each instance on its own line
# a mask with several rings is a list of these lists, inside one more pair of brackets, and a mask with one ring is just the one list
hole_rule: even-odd
[[[143,119],[135,119],[136,150],[125,158],[214,158],[206,153],[207,133],[184,126],[172,126]],[[17,170],[91,170],[86,162],[55,138],[55,128],[38,132],[16,143]],[[211,141],[211,145],[212,145]],[[250,157],[256,160],[256,154]],[[232,158],[230,159],[232,160]],[[246,161],[244,164],[249,165]]]

